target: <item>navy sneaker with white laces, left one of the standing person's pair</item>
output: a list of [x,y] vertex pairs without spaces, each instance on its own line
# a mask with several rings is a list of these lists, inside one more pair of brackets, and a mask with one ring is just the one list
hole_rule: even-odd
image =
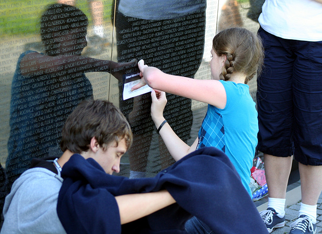
[[267,210],[261,211],[260,215],[266,224],[269,233],[271,233],[274,228],[285,226],[285,215],[283,218],[280,218],[273,208],[267,208]]

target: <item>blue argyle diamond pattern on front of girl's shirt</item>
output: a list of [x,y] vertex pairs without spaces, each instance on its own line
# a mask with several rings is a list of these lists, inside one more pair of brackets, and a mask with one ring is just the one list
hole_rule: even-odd
[[224,136],[225,129],[221,114],[208,110],[199,130],[197,149],[214,146],[225,152]]

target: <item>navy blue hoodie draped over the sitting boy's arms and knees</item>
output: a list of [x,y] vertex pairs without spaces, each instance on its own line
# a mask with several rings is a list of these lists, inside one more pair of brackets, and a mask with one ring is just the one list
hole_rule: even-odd
[[[215,147],[188,154],[152,178],[108,175],[93,159],[73,155],[63,166],[57,213],[67,233],[186,233],[193,215],[215,233],[268,233],[227,156]],[[177,203],[120,224],[114,196],[167,189]]]

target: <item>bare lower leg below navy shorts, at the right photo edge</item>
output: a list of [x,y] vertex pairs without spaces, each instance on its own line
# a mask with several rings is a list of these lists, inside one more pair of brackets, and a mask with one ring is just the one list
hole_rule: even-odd
[[322,191],[322,166],[298,164],[301,179],[302,203],[316,205]]

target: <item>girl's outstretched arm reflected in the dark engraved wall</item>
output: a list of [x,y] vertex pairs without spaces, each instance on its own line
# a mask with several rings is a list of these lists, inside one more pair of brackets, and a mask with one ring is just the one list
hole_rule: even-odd
[[[135,66],[136,59],[127,63],[102,60],[79,55],[48,56],[38,52],[26,54],[21,60],[20,67],[23,75],[50,74],[63,72],[67,74],[86,72],[110,72],[122,81],[124,69]],[[123,72],[123,73],[122,73]]]

